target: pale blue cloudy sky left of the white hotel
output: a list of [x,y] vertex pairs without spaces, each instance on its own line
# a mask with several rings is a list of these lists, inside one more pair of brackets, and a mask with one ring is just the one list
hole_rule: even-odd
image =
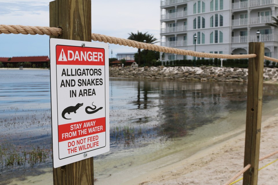
[[[0,25],[49,26],[50,1],[0,0]],[[137,31],[160,39],[160,0],[92,0],[92,33],[128,38]],[[109,58],[111,50],[112,57],[138,51],[109,44]],[[49,36],[0,34],[0,57],[14,56],[49,56]]]

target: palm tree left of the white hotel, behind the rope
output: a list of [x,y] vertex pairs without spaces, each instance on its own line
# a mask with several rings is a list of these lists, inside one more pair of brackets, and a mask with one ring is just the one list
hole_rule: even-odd
[[[142,32],[139,32],[139,31],[137,31],[137,33],[131,32],[127,39],[135,40],[138,42],[144,42],[144,40],[146,40],[146,43],[149,43],[149,44],[157,43],[156,42],[157,38],[154,38],[154,36],[152,34],[147,34],[147,33],[148,32],[143,34]],[[140,66],[140,60],[141,60],[141,49],[138,49],[138,66]]]

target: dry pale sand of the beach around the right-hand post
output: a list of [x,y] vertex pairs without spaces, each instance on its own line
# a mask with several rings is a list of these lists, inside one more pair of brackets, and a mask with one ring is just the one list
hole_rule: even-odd
[[[269,116],[271,114],[272,116]],[[264,117],[261,129],[260,157],[278,150],[277,132],[278,108]],[[243,168],[244,142],[245,133],[125,184],[225,184]],[[259,168],[277,158],[278,154],[261,161]],[[258,184],[278,184],[277,173],[278,161],[259,171]],[[242,184],[242,181],[235,184]]]

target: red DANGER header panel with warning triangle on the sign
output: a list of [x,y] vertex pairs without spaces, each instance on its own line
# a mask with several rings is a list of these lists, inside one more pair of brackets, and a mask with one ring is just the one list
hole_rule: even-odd
[[56,45],[57,65],[96,65],[104,66],[103,48]]

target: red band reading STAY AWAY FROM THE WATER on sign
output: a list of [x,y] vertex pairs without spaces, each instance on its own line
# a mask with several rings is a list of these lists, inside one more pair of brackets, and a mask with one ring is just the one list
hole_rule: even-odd
[[58,125],[58,142],[105,132],[105,117]]

